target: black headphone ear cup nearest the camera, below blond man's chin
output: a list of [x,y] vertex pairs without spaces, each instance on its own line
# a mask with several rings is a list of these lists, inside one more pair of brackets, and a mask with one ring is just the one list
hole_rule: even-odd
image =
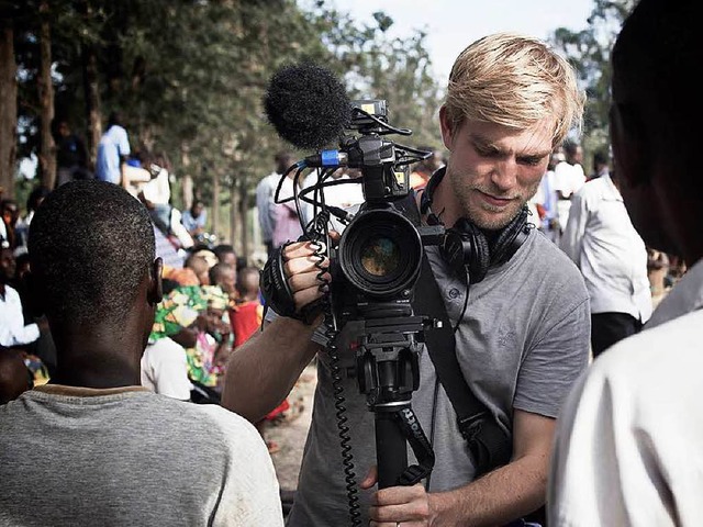
[[491,254],[486,236],[465,218],[447,229],[442,244],[442,255],[458,277],[469,273],[469,284],[483,280],[491,265]]

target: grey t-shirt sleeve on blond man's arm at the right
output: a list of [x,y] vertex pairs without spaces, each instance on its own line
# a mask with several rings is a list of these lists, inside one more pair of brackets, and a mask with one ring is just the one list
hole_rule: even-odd
[[[574,288],[576,289],[576,288]],[[562,312],[557,323],[537,335],[517,378],[513,407],[557,417],[574,381],[588,367],[591,317],[588,296]],[[578,291],[571,298],[578,299]],[[565,295],[569,298],[569,294]],[[555,309],[555,312],[558,312]]]

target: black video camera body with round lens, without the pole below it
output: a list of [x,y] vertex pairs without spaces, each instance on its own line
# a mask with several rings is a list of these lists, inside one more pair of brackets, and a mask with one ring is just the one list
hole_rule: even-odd
[[354,101],[353,108],[350,128],[360,135],[342,137],[339,152],[345,166],[361,171],[365,201],[328,247],[337,327],[349,319],[412,316],[424,246],[439,243],[442,234],[442,227],[420,225],[406,147],[383,137],[386,101]]

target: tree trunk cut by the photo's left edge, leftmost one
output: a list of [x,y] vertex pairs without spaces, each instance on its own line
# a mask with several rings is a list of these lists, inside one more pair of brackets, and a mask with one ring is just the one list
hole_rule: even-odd
[[13,29],[0,30],[0,187],[4,198],[14,198],[16,154],[18,83]]

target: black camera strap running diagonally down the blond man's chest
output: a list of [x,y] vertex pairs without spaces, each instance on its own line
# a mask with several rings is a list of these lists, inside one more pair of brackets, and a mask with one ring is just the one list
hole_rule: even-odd
[[[414,193],[397,203],[409,220],[420,225],[421,216]],[[468,294],[468,291],[467,291]],[[473,457],[476,476],[506,464],[512,456],[512,441],[488,407],[479,401],[461,373],[456,355],[456,337],[426,253],[422,257],[420,280],[413,294],[413,310],[442,321],[425,330],[425,347],[437,379],[457,414],[457,425]]]

